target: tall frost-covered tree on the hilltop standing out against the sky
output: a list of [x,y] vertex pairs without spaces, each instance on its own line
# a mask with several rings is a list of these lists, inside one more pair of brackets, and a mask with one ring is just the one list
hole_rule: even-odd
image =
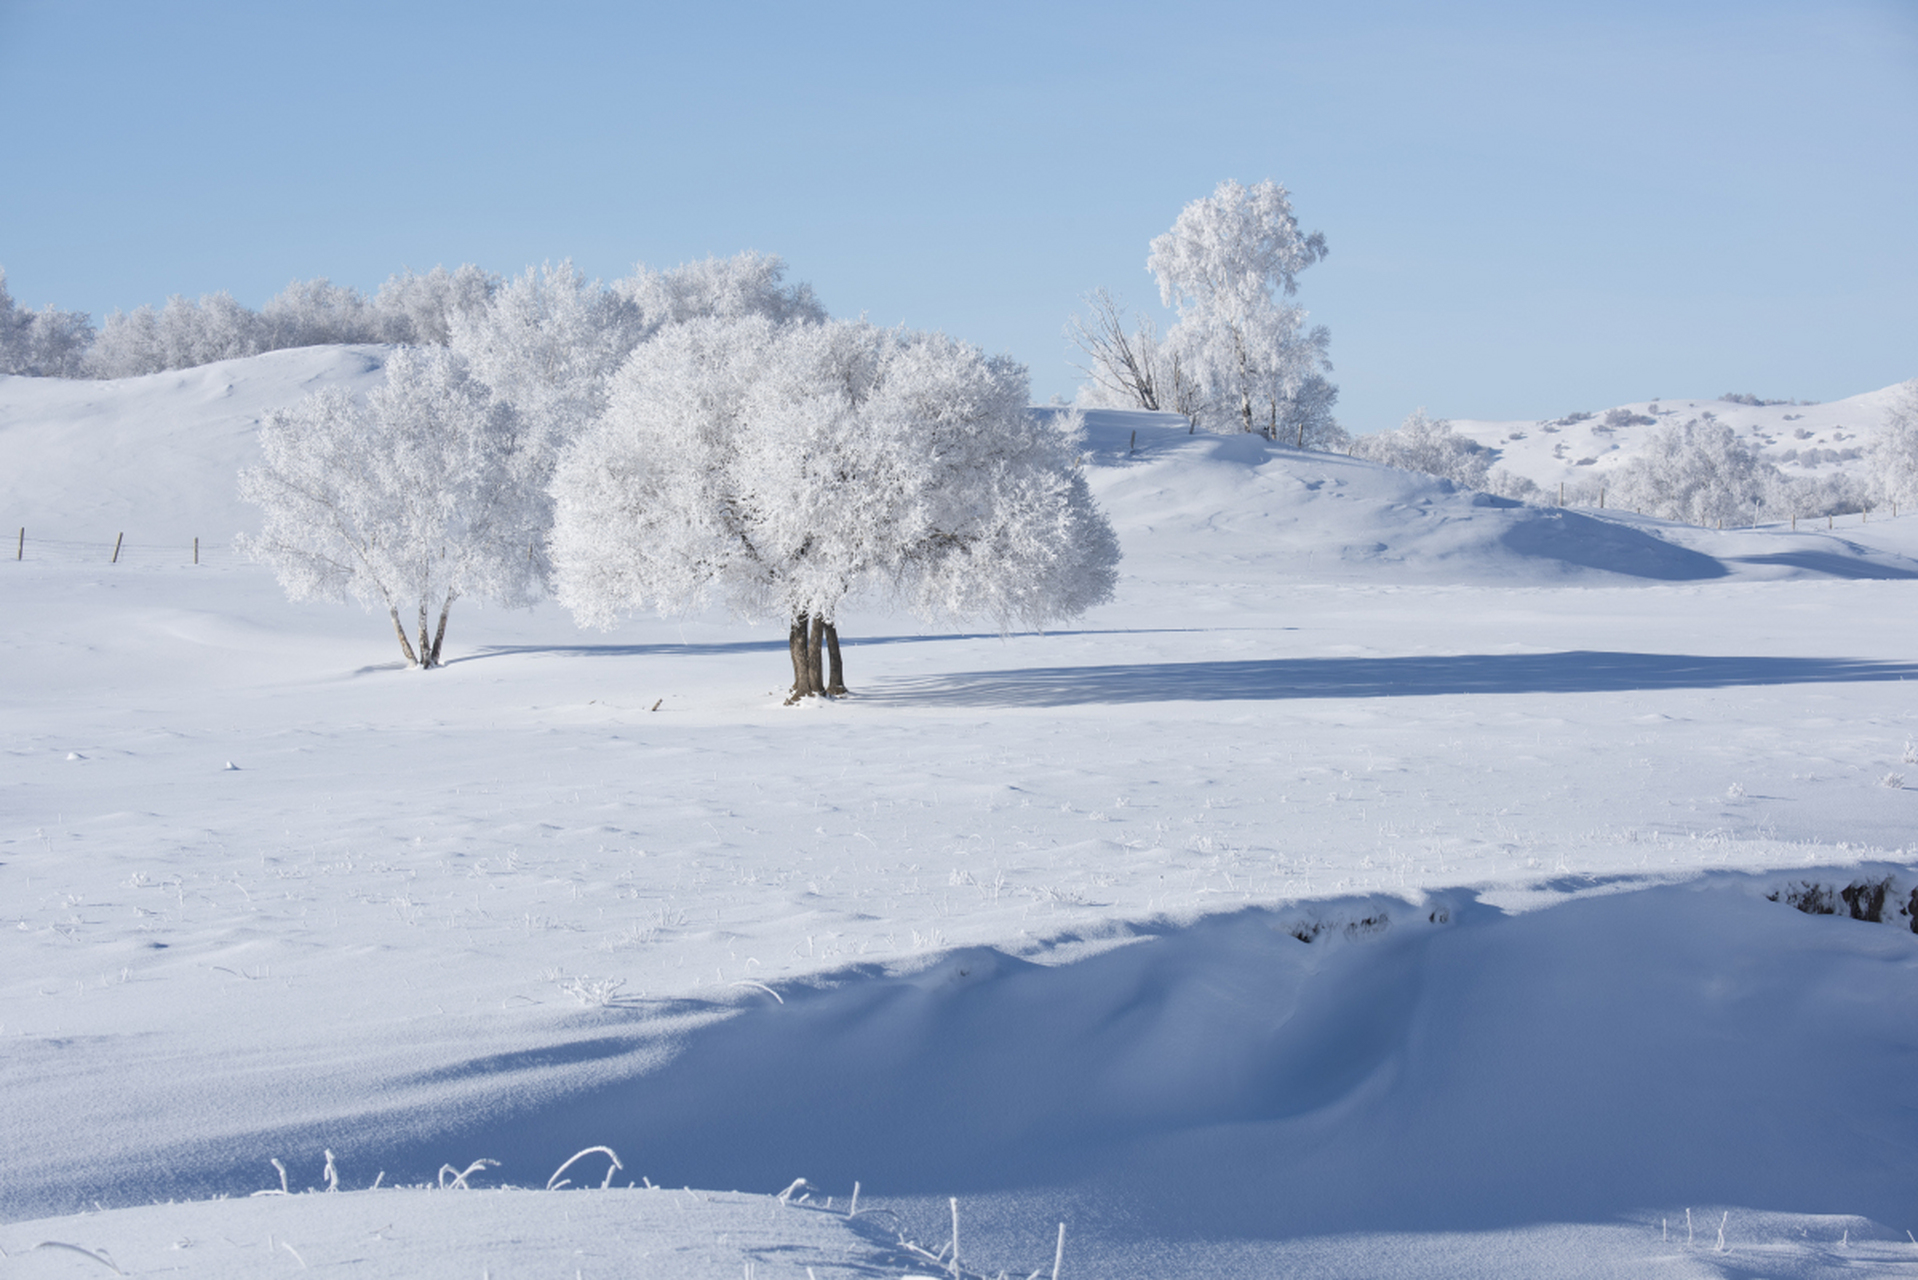
[[[1337,391],[1322,374],[1331,336],[1306,330],[1306,313],[1285,301],[1298,292],[1298,273],[1323,257],[1325,236],[1298,230],[1291,196],[1272,180],[1220,182],[1153,240],[1147,269],[1180,317],[1166,353],[1195,384],[1197,413],[1300,445],[1329,422]],[[1312,403],[1300,405],[1300,395]]]

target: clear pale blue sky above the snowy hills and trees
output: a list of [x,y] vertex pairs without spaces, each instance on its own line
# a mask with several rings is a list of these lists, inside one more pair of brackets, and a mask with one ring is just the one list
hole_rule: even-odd
[[763,249],[1078,374],[1275,178],[1352,430],[1918,376],[1918,0],[0,0],[0,265],[107,311]]

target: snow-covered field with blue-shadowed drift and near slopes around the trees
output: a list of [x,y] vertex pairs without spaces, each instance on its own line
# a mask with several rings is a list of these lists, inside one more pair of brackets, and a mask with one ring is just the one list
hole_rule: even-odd
[[418,674],[228,551],[380,359],[0,380],[6,1274],[949,1274],[953,1197],[969,1276],[1918,1274],[1918,516],[1093,415],[1059,633]]

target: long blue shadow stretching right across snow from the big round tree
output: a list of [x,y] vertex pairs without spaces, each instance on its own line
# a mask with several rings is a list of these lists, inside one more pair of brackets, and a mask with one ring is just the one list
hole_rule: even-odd
[[1444,693],[1617,693],[1897,679],[1918,679],[1918,662],[1573,651],[1032,666],[873,681],[861,691],[861,700],[884,706],[1091,706],[1402,699]]

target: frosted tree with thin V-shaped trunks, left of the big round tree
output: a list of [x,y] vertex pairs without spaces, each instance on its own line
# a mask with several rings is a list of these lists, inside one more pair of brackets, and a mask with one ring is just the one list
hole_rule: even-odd
[[[401,347],[364,403],[328,390],[269,413],[259,443],[265,461],[240,474],[240,495],[265,524],[244,551],[295,601],[384,604],[409,664],[439,666],[460,597],[545,593],[518,420],[447,349]],[[418,647],[401,608],[418,608]]]

